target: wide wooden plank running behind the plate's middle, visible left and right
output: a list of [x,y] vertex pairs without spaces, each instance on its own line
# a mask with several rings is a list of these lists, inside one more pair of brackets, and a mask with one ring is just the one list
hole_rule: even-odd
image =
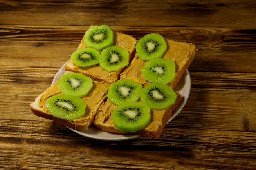
[[[37,120],[29,104],[50,86],[58,68],[15,68],[0,68],[0,111],[5,113],[1,118]],[[191,72],[189,100],[170,126],[185,129],[256,130],[255,77],[255,73]],[[229,101],[228,104],[226,101]],[[19,112],[10,107],[13,102],[16,108],[20,108]]]

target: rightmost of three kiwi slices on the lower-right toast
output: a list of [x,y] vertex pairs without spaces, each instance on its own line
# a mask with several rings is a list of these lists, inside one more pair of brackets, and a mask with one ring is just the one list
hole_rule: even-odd
[[164,110],[176,102],[177,95],[166,84],[150,83],[142,89],[140,98],[150,109]]

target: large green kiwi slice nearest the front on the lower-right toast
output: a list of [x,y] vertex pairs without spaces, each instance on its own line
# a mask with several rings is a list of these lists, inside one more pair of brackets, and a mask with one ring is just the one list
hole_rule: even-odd
[[150,108],[142,102],[120,104],[112,113],[112,121],[117,130],[136,132],[150,123]]

